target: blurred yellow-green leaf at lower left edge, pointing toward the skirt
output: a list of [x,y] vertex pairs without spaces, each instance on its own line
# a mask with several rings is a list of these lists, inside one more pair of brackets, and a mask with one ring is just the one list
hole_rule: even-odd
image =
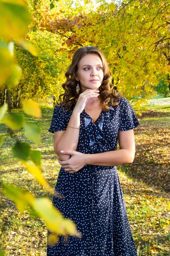
[[3,193],[10,197],[20,212],[23,212],[35,201],[34,195],[13,185],[3,184]]

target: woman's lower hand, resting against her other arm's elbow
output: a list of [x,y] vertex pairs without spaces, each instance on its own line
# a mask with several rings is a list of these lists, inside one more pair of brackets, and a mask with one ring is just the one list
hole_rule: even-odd
[[62,154],[71,155],[71,158],[65,161],[60,161],[59,163],[62,166],[63,169],[65,169],[65,172],[74,173],[78,172],[80,169],[82,169],[83,166],[86,165],[86,155],[77,151],[61,151]]

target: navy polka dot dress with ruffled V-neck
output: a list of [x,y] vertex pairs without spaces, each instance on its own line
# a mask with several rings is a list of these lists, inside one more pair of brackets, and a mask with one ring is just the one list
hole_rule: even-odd
[[[48,131],[66,130],[72,111],[56,106]],[[116,150],[119,131],[138,125],[124,97],[118,107],[102,110],[94,124],[83,110],[77,151],[96,154]],[[64,199],[54,196],[53,205],[74,221],[83,236],[70,236],[68,243],[59,236],[56,245],[47,244],[47,256],[137,256],[116,166],[85,165],[73,174],[61,168],[55,189]]]

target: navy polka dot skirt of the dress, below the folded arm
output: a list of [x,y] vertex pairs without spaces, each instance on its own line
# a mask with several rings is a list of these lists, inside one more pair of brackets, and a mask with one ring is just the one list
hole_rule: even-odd
[[[69,174],[60,169],[53,204],[71,218],[82,238],[63,236],[47,246],[47,256],[136,256],[116,167],[84,166]],[[49,232],[48,232],[49,234]]]

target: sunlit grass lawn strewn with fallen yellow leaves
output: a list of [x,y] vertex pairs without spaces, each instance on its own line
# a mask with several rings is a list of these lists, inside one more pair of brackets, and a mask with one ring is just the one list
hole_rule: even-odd
[[[149,105],[149,110],[139,116],[140,126],[135,132],[136,157],[132,164],[118,166],[127,215],[139,256],[170,255],[170,203],[169,203],[169,155],[170,155],[170,105]],[[59,163],[53,151],[53,136],[48,133],[53,109],[43,107],[43,119],[26,117],[27,122],[40,125],[42,143],[35,145],[24,137],[23,130],[16,135],[29,142],[42,153],[43,172],[54,187]],[[0,125],[0,133],[7,134],[7,127]],[[31,191],[36,197],[52,199],[35,180],[11,156],[14,138],[6,136],[0,148],[1,180]],[[45,256],[47,227],[42,220],[33,219],[25,212],[17,211],[14,203],[2,194],[0,201],[0,240],[6,256]]]

